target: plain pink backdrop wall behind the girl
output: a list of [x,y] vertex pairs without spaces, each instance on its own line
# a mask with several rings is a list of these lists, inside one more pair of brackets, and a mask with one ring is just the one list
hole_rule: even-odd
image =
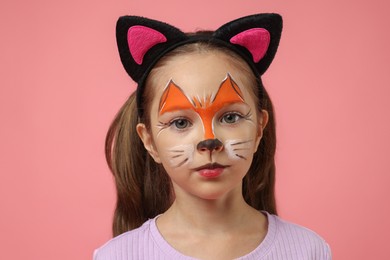
[[279,12],[284,33],[264,81],[277,111],[280,215],[321,234],[334,259],[388,259],[389,5],[2,1],[1,258],[91,259],[110,238],[104,138],[134,87],[116,50],[118,16],[194,30]]

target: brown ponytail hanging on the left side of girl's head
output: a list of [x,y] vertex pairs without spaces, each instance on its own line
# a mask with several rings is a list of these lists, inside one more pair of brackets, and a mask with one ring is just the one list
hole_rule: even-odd
[[137,124],[137,105],[132,94],[106,136],[106,160],[115,178],[117,195],[114,236],[141,226],[167,210],[172,202],[170,179],[145,150]]

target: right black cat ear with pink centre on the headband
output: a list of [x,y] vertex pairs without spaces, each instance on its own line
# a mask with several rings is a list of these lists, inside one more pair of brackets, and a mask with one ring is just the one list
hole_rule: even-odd
[[282,17],[278,14],[256,14],[221,26],[214,37],[233,44],[262,75],[275,57],[282,26]]

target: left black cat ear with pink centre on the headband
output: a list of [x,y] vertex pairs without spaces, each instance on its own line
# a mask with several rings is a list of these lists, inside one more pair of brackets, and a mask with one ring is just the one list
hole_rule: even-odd
[[139,16],[122,16],[116,25],[118,50],[123,66],[138,82],[158,56],[170,46],[187,39],[179,29]]

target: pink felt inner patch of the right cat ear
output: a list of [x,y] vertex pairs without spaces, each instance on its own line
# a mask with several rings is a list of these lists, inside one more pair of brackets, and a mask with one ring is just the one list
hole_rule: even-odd
[[252,54],[253,61],[257,63],[267,52],[270,39],[266,29],[252,28],[233,36],[230,42],[245,47]]

